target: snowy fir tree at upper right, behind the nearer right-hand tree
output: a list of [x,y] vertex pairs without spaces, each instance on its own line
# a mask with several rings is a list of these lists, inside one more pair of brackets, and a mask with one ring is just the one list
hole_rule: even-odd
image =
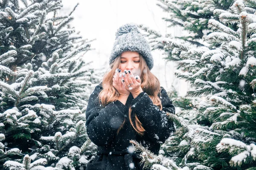
[[[168,28],[178,27],[182,34],[173,34],[167,31],[166,35],[160,34],[157,31],[148,28],[147,26],[140,25],[146,32],[152,50],[160,49],[166,54],[166,59],[178,61],[180,59],[180,51],[173,48],[164,48],[161,40],[163,37],[172,37],[173,39],[194,47],[207,45],[202,37],[212,32],[207,27],[210,19],[219,20],[214,15],[214,10],[219,11],[227,10],[232,5],[233,0],[157,0],[157,6],[168,14],[163,17],[166,21]],[[217,10],[215,10],[217,12]],[[236,29],[236,25],[232,26]]]

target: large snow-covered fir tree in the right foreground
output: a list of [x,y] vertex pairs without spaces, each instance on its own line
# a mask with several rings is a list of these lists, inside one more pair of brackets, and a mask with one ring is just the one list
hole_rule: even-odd
[[237,0],[226,11],[215,9],[219,21],[210,19],[212,33],[203,37],[210,48],[163,39],[166,48],[180,51],[184,72],[175,74],[195,86],[189,96],[205,96],[190,123],[170,115],[177,130],[167,139],[166,151],[180,167],[256,169],[255,8],[255,0]]

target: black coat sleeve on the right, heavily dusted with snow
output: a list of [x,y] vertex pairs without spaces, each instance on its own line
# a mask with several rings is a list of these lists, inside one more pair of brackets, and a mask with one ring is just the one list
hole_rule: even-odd
[[132,102],[131,108],[137,114],[148,137],[157,143],[164,143],[175,130],[174,122],[167,118],[166,112],[175,114],[175,107],[166,90],[161,87],[162,111],[154,105],[148,94],[140,93]]

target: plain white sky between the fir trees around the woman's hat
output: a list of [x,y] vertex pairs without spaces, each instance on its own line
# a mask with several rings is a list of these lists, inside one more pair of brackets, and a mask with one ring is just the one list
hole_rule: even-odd
[[[108,65],[108,59],[113,48],[116,30],[125,23],[136,23],[148,26],[161,34],[181,34],[179,29],[166,27],[162,17],[167,13],[156,5],[157,0],[63,0],[62,11],[70,13],[73,7],[79,6],[73,13],[72,25],[81,32],[84,38],[91,42],[94,51],[85,54],[86,61],[93,60],[93,67],[101,68]],[[183,96],[187,91],[187,82],[174,76],[175,63],[164,61],[162,51],[153,51],[154,67],[151,72],[160,79],[160,84],[166,90],[172,85]]]

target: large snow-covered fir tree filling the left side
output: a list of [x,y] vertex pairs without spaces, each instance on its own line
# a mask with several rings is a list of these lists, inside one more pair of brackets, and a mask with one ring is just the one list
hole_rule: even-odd
[[94,158],[84,128],[90,41],[56,15],[61,7],[0,0],[0,169],[75,170]]

